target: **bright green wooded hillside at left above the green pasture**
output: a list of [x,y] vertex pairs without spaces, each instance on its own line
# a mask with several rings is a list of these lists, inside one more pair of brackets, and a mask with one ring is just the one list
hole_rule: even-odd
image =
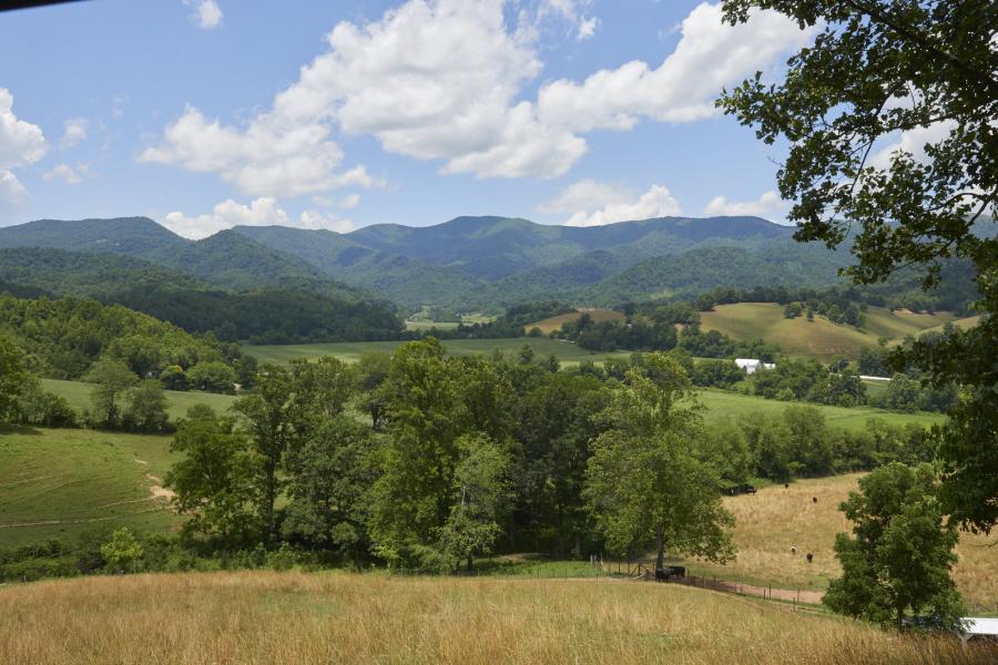
[[256,372],[238,345],[95,300],[0,294],[0,335],[24,351],[32,374],[55,379],[80,379],[98,360],[114,359],[136,378],[162,377],[172,389],[232,392]]

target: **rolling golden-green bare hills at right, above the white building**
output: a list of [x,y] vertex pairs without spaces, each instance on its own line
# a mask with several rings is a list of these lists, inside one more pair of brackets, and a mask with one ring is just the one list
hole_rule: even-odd
[[701,314],[701,327],[719,330],[734,339],[761,337],[778,344],[786,354],[827,360],[836,355],[855,359],[864,347],[876,347],[880,337],[900,339],[905,335],[918,336],[924,330],[955,319],[945,313],[892,313],[882,307],[870,307],[864,316],[866,321],[860,329],[836,325],[821,316],[813,321],[803,316],[784,318],[783,306],[773,303],[737,303],[719,305],[714,311]]

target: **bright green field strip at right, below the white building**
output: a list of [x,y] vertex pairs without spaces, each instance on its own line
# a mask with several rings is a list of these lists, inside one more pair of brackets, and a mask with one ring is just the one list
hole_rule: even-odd
[[[775,399],[764,399],[751,395],[741,395],[737,392],[729,392],[725,390],[701,390],[699,393],[700,401],[706,407],[705,418],[707,420],[716,420],[725,417],[740,418],[748,413],[771,413],[778,416],[791,405],[806,405],[806,402],[785,402]],[[889,424],[906,424],[915,422],[923,427],[929,427],[946,420],[941,413],[897,413],[894,411],[885,411],[883,409],[869,409],[865,407],[827,407],[822,405],[813,406],[825,415],[825,420],[829,427],[839,427],[847,430],[860,430],[866,427],[866,421],[870,418],[880,418]]]

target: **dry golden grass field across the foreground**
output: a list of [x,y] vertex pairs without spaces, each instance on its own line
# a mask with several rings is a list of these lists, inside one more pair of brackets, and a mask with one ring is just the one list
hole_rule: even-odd
[[[0,662],[994,663],[676,585],[303,573],[136,575],[0,589]],[[58,638],[53,638],[58,635]]]

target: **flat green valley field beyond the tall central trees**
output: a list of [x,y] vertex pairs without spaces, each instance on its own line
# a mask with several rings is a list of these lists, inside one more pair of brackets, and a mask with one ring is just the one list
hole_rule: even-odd
[[[403,341],[340,341],[332,344],[294,344],[275,346],[244,346],[243,349],[261,362],[284,364],[294,358],[316,359],[334,356],[346,362],[354,362],[361,354],[369,351],[391,352]],[[508,339],[446,339],[441,344],[451,356],[491,354],[495,350],[518,352],[525,345],[538,356],[554,354],[563,365],[578,365],[582,360],[600,361],[608,356],[627,358],[631,351],[613,354],[587,351],[573,344],[543,337],[515,337]]]

